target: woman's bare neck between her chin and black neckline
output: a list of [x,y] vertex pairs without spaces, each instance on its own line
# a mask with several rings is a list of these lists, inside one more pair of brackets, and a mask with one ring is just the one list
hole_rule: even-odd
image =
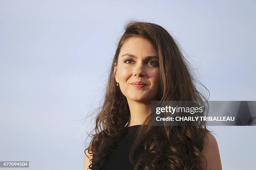
[[150,114],[150,103],[141,103],[128,99],[127,102],[131,115],[128,127],[133,125],[142,125],[148,114]]

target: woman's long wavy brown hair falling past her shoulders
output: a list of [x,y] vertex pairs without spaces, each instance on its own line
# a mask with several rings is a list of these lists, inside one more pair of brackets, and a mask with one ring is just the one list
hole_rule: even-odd
[[[156,100],[198,101],[201,105],[207,104],[207,98],[196,89],[197,81],[173,37],[157,24],[129,22],[113,58],[104,102],[96,117],[95,133],[91,135],[92,140],[86,148],[93,155],[89,166],[93,170],[100,169],[107,154],[115,149],[118,138],[127,131],[125,125],[129,122],[130,110],[126,97],[116,85],[114,71],[122,45],[133,36],[149,40],[158,53],[161,90]],[[207,132],[210,131],[205,122],[194,126],[153,126],[148,116],[139,127],[129,159],[134,170],[201,170],[204,158],[202,149]],[[138,151],[139,155],[135,158]]]

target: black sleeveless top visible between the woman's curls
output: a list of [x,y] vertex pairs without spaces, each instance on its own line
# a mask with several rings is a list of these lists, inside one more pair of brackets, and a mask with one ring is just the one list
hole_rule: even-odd
[[115,150],[107,155],[101,170],[133,170],[134,166],[129,161],[129,153],[133,139],[141,125],[127,128],[125,135],[118,140]]

